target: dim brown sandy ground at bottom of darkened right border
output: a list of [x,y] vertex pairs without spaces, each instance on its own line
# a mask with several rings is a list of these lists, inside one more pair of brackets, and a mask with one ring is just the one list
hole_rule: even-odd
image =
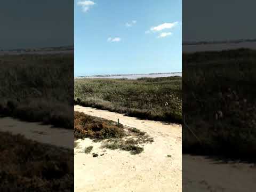
[[255,189],[256,167],[253,164],[182,156],[182,191],[252,192]]

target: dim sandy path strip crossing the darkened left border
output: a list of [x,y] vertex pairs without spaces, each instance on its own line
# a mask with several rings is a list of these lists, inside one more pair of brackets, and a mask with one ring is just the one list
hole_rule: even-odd
[[0,118],[0,132],[22,134],[27,139],[35,140],[50,145],[74,148],[73,130],[53,128],[49,125],[22,122],[11,117]]

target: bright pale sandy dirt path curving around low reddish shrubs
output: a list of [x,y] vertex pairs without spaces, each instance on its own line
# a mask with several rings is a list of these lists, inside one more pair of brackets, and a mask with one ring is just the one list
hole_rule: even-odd
[[[181,191],[181,125],[140,120],[122,114],[75,106],[75,111],[117,121],[145,131],[154,142],[139,155],[102,149],[90,139],[77,140],[75,149],[75,191]],[[82,153],[93,146],[91,154]],[[104,154],[100,156],[100,154]],[[167,157],[171,155],[171,157]]]

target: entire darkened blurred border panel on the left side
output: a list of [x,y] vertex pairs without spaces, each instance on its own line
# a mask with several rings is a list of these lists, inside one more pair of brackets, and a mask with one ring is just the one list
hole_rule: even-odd
[[2,1],[0,22],[0,189],[74,191],[74,1]]

